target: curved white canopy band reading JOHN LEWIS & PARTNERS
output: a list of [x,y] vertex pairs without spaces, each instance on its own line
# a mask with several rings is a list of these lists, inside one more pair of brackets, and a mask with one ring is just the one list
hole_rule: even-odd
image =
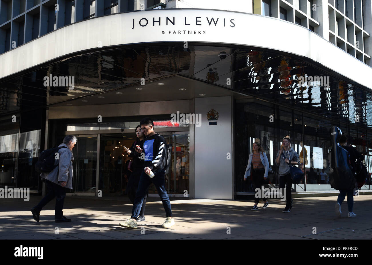
[[67,25],[1,54],[0,78],[93,48],[185,41],[289,52],[372,87],[371,67],[302,26],[273,17],[208,9],[118,13]]

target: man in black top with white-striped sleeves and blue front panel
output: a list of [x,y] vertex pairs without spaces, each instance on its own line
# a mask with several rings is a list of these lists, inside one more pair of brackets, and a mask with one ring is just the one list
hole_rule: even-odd
[[[172,210],[170,206],[169,197],[165,188],[165,171],[163,167],[163,160],[166,156],[166,142],[162,135],[155,133],[154,122],[150,118],[144,118],[140,122],[141,130],[145,134],[145,142],[143,144],[143,151],[145,152],[145,169],[140,176],[136,198],[132,208],[132,216],[129,220],[119,223],[122,227],[129,227],[137,229],[137,217],[140,214],[143,198],[151,183],[154,183],[156,190],[163,202],[164,210],[166,211],[166,219],[162,224],[163,227],[171,227],[174,225],[172,218]],[[139,147],[139,146],[138,146]],[[136,149],[140,153],[140,148]],[[153,173],[154,175],[152,175]],[[151,177],[150,177],[151,176]]]

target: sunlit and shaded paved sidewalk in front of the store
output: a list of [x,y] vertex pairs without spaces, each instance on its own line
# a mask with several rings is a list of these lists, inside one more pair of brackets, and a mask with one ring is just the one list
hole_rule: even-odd
[[[269,199],[269,207],[250,211],[253,200],[223,201],[170,198],[175,225],[163,228],[164,208],[158,197],[148,198],[146,221],[138,229],[119,226],[129,218],[128,198],[66,197],[64,215],[71,223],[55,223],[54,203],[32,218],[31,207],[41,196],[1,199],[0,239],[372,239],[372,195],[354,197],[355,218],[334,214],[337,197],[295,198],[291,213],[285,203]],[[314,228],[316,233],[313,233]],[[57,233],[58,232],[58,233]]]

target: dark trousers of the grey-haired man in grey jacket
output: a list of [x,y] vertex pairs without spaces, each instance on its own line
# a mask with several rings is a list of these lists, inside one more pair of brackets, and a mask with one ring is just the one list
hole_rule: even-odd
[[54,209],[54,218],[61,219],[63,217],[63,203],[66,197],[66,188],[58,185],[54,182],[48,181],[45,179],[45,184],[47,185],[47,195],[41,199],[38,205],[35,206],[36,210],[39,212],[42,208],[47,205],[54,197],[55,199],[55,209]]

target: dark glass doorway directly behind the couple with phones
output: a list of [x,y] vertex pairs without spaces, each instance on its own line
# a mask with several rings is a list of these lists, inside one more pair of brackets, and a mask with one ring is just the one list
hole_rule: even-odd
[[[180,132],[181,133],[181,132]],[[172,146],[170,172],[165,176],[167,193],[173,196],[190,194],[190,144],[189,133],[160,132],[168,144]],[[124,196],[128,183],[127,165],[130,157],[124,147],[130,148],[136,139],[135,133],[101,134],[99,151],[99,189],[102,196]],[[175,148],[176,147],[176,148]],[[187,192],[186,192],[187,191]],[[157,194],[153,184],[149,194]],[[126,195],[125,195],[126,196]]]

